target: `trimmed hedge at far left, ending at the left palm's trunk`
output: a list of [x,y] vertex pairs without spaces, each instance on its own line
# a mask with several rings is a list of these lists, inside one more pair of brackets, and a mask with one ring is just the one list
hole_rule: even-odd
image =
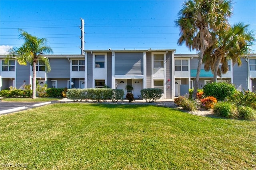
[[32,90],[2,90],[0,91],[0,96],[4,98],[31,98]]

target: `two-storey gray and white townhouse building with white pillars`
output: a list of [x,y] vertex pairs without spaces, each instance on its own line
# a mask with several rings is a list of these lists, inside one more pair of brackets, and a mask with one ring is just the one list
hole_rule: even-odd
[[[49,88],[110,88],[134,87],[135,98],[143,88],[162,89],[163,99],[188,94],[194,87],[198,66],[198,55],[174,54],[174,49],[162,50],[85,50],[84,55],[46,55],[51,71],[46,72],[44,64],[37,63],[38,83]],[[0,90],[24,88],[32,84],[32,66],[18,64],[13,59],[5,62],[0,56]],[[240,91],[254,91],[256,87],[256,54],[242,58],[242,66],[232,66],[218,82],[230,82]],[[202,64],[199,88],[212,80],[212,72],[204,70]]]

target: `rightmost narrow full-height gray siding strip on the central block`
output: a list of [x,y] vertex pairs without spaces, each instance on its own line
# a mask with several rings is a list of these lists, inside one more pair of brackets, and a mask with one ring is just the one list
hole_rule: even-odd
[[[168,82],[170,79],[170,82]],[[169,52],[166,54],[166,98],[172,98],[172,53]],[[168,87],[170,85],[170,87]]]

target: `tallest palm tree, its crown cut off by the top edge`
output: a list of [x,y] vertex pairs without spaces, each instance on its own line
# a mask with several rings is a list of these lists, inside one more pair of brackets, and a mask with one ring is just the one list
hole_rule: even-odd
[[187,0],[175,20],[180,28],[178,45],[186,46],[199,53],[196,82],[192,97],[196,98],[199,76],[205,50],[213,43],[211,31],[222,30],[232,15],[231,0]]

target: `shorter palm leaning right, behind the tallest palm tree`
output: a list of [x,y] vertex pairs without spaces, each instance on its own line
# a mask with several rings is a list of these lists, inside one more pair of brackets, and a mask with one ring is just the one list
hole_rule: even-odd
[[[221,76],[228,72],[228,60],[232,59],[232,64],[241,65],[240,57],[250,53],[249,48],[253,45],[255,38],[249,25],[236,23],[228,29],[224,29],[216,34],[214,45],[206,50],[203,63],[206,71],[212,70],[213,82],[217,82],[217,75]],[[221,69],[219,68],[222,63]]]

